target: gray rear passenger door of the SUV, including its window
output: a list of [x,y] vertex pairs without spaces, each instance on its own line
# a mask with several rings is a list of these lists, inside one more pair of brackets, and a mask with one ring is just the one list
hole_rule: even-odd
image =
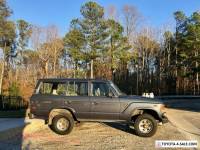
[[78,119],[90,118],[90,99],[87,81],[69,81],[64,106],[72,108]]

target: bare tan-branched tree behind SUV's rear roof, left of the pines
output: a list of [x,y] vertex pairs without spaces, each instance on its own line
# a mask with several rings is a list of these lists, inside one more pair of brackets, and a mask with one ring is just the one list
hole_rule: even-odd
[[64,48],[62,39],[59,37],[58,28],[55,25],[35,27],[32,43],[38,52],[43,76],[49,76],[49,68],[53,68],[53,76],[56,76],[56,65]]

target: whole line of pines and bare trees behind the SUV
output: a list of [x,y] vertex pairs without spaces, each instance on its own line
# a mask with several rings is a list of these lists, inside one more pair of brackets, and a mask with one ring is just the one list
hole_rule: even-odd
[[136,7],[87,2],[64,37],[55,25],[11,21],[0,0],[0,92],[32,94],[39,78],[113,80],[127,94],[196,94],[200,73],[200,12],[174,12],[174,31],[145,25]]

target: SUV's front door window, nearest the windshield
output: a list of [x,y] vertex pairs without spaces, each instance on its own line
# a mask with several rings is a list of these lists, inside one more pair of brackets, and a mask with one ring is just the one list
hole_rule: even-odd
[[106,83],[92,83],[92,96],[109,96],[109,92],[110,90]]

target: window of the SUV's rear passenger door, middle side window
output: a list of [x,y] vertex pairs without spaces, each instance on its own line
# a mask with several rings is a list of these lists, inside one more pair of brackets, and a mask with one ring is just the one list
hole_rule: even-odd
[[87,82],[69,82],[67,85],[67,96],[88,96]]

